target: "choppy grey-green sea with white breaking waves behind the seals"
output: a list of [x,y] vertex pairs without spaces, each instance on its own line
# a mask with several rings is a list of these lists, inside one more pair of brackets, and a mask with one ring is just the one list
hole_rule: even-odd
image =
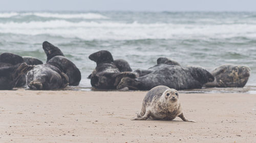
[[152,67],[163,56],[209,71],[223,64],[246,65],[251,76],[244,88],[213,91],[256,93],[256,12],[0,12],[0,53],[46,62],[44,41],[80,69],[80,90],[90,90],[87,77],[96,67],[88,56],[109,50],[133,70]]

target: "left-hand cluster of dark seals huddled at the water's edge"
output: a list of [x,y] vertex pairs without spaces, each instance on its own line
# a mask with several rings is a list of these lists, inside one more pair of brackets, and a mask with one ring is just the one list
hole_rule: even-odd
[[[47,63],[40,60],[13,53],[0,55],[0,85],[1,90],[11,90],[26,84],[33,90],[53,90],[79,85],[81,73],[68,60],[61,50],[45,41],[42,48],[47,55]],[[26,76],[25,76],[26,74]],[[6,82],[8,81],[8,84]]]

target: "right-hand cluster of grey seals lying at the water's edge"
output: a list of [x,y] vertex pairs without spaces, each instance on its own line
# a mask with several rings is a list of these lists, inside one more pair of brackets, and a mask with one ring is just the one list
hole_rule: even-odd
[[97,89],[150,90],[166,85],[176,90],[202,87],[244,87],[250,76],[247,66],[226,64],[211,73],[202,67],[181,66],[168,58],[158,58],[157,65],[147,70],[132,69],[125,60],[114,61],[109,51],[101,50],[89,56],[97,66],[91,78]]

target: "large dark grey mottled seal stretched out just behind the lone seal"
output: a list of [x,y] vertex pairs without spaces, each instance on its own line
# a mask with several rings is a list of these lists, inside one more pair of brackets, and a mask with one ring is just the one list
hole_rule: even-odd
[[150,90],[158,85],[177,90],[200,89],[204,83],[214,81],[214,77],[201,67],[182,67],[177,64],[158,64],[141,72],[145,75],[135,79],[122,78],[117,89]]

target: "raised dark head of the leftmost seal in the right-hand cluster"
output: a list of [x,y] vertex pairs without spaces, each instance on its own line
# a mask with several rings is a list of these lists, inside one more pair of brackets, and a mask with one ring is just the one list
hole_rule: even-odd
[[114,62],[112,54],[107,50],[100,50],[89,55],[89,59],[96,62],[97,65],[100,63],[111,63]]

